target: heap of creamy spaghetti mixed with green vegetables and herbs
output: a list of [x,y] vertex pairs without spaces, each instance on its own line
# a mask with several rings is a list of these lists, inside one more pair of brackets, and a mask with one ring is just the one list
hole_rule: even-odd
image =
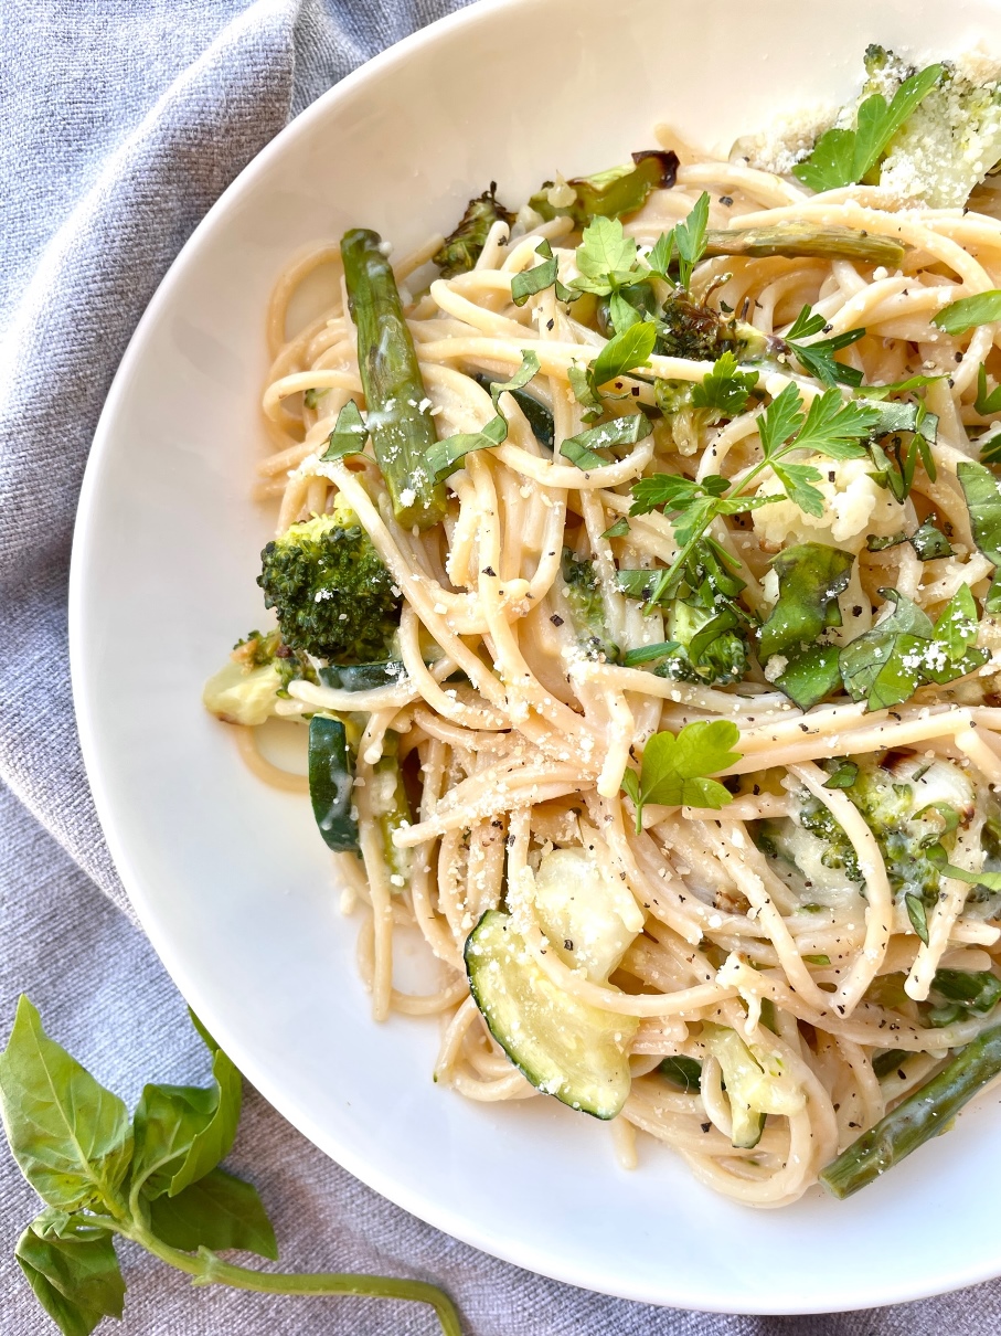
[[[868,96],[941,100],[934,69],[870,53]],[[207,703],[308,723],[374,1015],[440,1018],[440,1086],[557,1096],[777,1206],[998,1070],[1001,223],[878,162],[825,182],[822,142],[811,192],[661,138],[517,219],[491,187],[391,270],[366,232],[290,265],[279,628]],[[340,297],[290,331],[320,269]],[[432,994],[394,985],[404,926]]]

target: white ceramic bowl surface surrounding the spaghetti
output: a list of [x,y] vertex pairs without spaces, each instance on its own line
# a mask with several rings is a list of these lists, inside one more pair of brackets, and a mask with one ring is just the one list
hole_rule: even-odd
[[775,112],[850,94],[869,41],[937,59],[980,37],[1001,48],[996,4],[474,5],[346,79],[251,163],[171,269],[108,398],[73,552],[73,683],[143,925],[291,1122],[387,1197],[522,1267],[773,1313],[982,1280],[1001,1272],[1000,1097],[849,1202],[815,1193],[750,1213],[646,1140],[639,1172],[623,1173],[609,1130],[553,1100],[480,1106],[436,1088],[435,1023],[371,1022],[356,925],[338,912],[307,802],[258,784],[199,704],[260,617],[267,518],[247,493],[270,286],[307,240],[363,224],[407,247],[491,178],[519,200],[555,168],[651,147],[659,120],[725,150]]

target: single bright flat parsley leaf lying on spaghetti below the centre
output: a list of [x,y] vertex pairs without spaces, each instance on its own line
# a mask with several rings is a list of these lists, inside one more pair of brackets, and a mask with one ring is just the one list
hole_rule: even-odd
[[686,724],[675,736],[654,733],[643,748],[639,775],[627,770],[622,787],[637,807],[637,831],[642,831],[643,806],[711,807],[733,802],[727,790],[707,776],[741,760],[733,751],[741,732],[729,719]]

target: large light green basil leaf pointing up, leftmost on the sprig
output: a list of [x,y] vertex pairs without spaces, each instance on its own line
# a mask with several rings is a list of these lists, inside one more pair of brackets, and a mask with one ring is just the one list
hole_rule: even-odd
[[21,994],[0,1054],[0,1110],[21,1173],[51,1206],[115,1202],[132,1157],[124,1104],[55,1043]]

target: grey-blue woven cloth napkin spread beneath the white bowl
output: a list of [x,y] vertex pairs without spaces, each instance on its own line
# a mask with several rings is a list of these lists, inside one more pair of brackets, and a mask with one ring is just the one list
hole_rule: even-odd
[[[97,414],[139,315],[219,192],[320,92],[460,4],[3,0],[0,1030],[17,993],[29,993],[53,1035],[129,1101],[145,1079],[190,1082],[206,1071],[183,1001],[129,921],[73,724],[67,570]],[[231,1164],[259,1186],[290,1268],[436,1281],[459,1303],[470,1336],[1001,1329],[998,1284],[805,1319],[671,1312],[559,1285],[382,1200],[254,1092]],[[41,1336],[53,1328],[12,1257],[36,1198],[1,1149],[0,1200],[3,1331]],[[176,1272],[121,1252],[132,1336],[436,1329],[410,1304],[192,1291]]]

